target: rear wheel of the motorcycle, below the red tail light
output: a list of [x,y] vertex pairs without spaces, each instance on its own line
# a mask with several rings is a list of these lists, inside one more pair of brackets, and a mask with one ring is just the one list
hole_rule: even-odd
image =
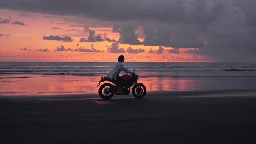
[[99,95],[103,99],[110,99],[114,96],[114,86],[110,83],[103,83],[99,88]]

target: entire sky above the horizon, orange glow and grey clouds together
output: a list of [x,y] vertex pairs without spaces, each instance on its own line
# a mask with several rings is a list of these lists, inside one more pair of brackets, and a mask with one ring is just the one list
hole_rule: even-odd
[[0,61],[256,62],[255,0],[1,0]]

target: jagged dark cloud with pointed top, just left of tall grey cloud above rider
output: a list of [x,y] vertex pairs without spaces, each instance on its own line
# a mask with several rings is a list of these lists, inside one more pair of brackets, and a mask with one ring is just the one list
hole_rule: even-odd
[[111,40],[107,37],[107,34],[104,33],[104,37],[101,36],[101,34],[98,34],[97,36],[94,36],[95,35],[95,31],[88,28],[88,27],[84,27],[84,31],[85,32],[89,32],[89,36],[86,38],[86,37],[82,37],[80,38],[80,41],[79,42],[102,42],[102,41],[108,41],[108,42],[116,42],[115,40]]

